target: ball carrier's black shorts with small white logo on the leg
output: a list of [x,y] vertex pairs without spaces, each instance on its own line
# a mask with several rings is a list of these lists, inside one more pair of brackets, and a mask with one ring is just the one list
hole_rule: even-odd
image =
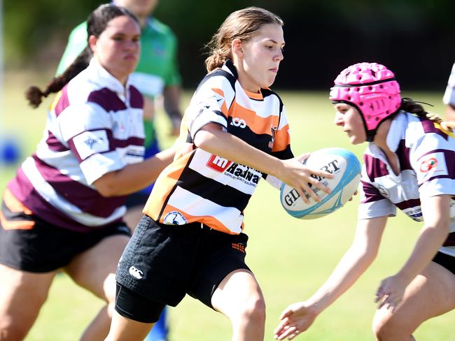
[[144,215],[120,259],[118,284],[163,305],[175,307],[188,293],[212,307],[211,296],[229,273],[250,270],[248,236],[201,226],[159,224]]

